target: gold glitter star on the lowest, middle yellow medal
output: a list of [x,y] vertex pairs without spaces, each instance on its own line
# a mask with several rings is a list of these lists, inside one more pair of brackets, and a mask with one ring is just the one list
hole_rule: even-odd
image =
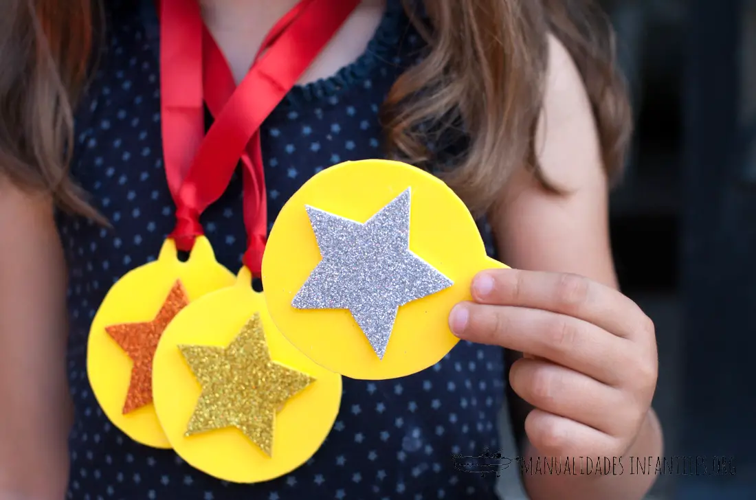
[[202,386],[186,435],[237,427],[271,456],[276,410],[315,379],[271,360],[257,313],[228,347],[178,348]]

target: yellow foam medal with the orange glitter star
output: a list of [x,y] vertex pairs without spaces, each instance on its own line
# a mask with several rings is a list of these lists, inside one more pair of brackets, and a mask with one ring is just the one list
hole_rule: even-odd
[[234,282],[200,236],[186,262],[172,239],[156,261],[129,271],[92,320],[87,373],[107,418],[138,443],[170,448],[153,406],[153,355],[173,317],[190,301]]

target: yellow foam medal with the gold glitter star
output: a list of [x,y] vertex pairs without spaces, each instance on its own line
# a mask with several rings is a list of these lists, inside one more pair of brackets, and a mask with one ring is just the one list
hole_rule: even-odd
[[175,452],[234,483],[307,461],[336,421],[341,392],[339,374],[280,335],[246,267],[236,284],[175,316],[153,363],[155,408]]

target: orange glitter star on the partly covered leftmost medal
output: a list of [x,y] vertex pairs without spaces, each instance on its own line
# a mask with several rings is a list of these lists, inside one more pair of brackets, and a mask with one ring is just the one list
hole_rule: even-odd
[[122,323],[105,327],[105,331],[134,362],[123,415],[152,403],[152,360],[157,343],[178,311],[189,304],[187,292],[176,280],[163,306],[152,321]]

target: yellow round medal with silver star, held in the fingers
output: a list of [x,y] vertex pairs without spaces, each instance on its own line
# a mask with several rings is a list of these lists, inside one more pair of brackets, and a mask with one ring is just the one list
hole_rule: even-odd
[[268,310],[314,362],[351,378],[411,375],[457,338],[454,304],[472,277],[507,267],[438,178],[401,162],[345,162],[280,211],[262,261]]

